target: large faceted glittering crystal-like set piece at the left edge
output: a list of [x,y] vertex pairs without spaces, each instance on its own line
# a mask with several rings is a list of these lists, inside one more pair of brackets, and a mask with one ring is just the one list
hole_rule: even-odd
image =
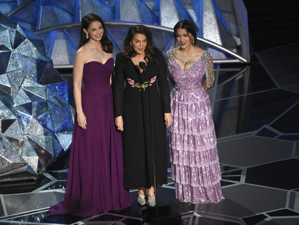
[[0,24],[0,180],[35,175],[67,150],[72,112],[44,41],[17,23]]

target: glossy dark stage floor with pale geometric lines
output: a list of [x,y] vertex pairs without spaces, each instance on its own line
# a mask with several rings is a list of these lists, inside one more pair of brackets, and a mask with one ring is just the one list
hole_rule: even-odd
[[[255,53],[245,68],[215,65],[216,84],[209,95],[225,199],[218,204],[179,202],[168,169],[168,184],[157,189],[158,204],[182,213],[184,225],[299,224],[298,48]],[[67,155],[57,160],[34,187],[0,190],[0,225],[145,224],[137,190],[130,190],[135,202],[122,211],[47,217],[49,206],[64,197],[67,161]]]

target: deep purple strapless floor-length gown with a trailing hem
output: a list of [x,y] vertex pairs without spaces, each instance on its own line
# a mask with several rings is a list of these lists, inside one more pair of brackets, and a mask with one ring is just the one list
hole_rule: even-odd
[[105,64],[92,61],[84,65],[81,99],[87,129],[78,127],[75,115],[64,201],[51,206],[48,215],[88,217],[133,204],[123,187],[121,133],[114,125],[110,85],[112,70],[112,58]]

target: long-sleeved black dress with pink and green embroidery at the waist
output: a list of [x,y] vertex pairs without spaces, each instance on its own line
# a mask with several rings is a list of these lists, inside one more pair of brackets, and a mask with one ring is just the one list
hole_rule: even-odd
[[114,112],[115,117],[122,115],[124,121],[124,186],[128,189],[149,188],[154,185],[149,100],[153,121],[156,184],[167,184],[164,113],[171,112],[170,97],[164,56],[159,50],[156,50],[156,54],[158,63],[149,62],[142,73],[131,59],[125,60],[121,53],[116,55]]

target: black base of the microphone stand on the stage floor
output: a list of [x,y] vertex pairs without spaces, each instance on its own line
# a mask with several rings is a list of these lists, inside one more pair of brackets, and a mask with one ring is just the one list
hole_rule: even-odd
[[143,209],[142,219],[152,225],[182,225],[182,215],[170,205]]

